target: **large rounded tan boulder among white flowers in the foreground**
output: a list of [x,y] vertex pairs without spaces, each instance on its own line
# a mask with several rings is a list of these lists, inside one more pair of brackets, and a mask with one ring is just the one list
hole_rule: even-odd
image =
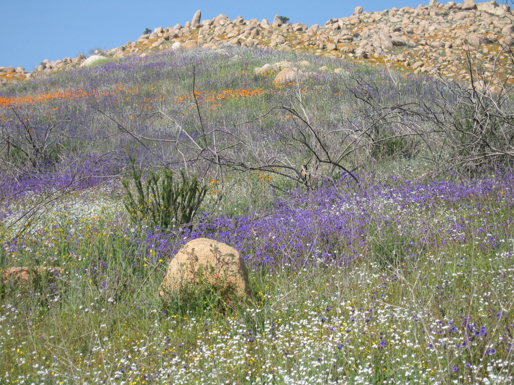
[[168,293],[197,287],[201,282],[232,291],[239,298],[250,295],[248,269],[237,250],[207,238],[189,241],[177,252],[168,265],[159,295],[167,299]]

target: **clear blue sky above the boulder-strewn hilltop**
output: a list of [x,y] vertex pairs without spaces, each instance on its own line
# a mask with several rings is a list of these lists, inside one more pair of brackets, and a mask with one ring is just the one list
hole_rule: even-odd
[[[420,0],[349,1],[134,1],[134,0],[25,0],[6,1],[0,22],[0,67],[22,66],[32,71],[43,60],[58,60],[88,54],[93,48],[116,48],[135,41],[145,28],[172,27],[190,21],[196,10],[202,20],[220,13],[232,20],[279,14],[291,23],[324,24],[329,18],[352,14],[356,6],[365,11],[393,7],[417,7]],[[425,4],[426,3],[426,4]],[[425,4],[429,0],[425,0]]]

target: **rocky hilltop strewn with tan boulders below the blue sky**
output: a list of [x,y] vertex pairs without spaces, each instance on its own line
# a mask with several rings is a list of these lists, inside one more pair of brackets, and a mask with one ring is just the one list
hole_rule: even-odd
[[[27,80],[36,76],[87,65],[98,60],[119,59],[125,55],[146,55],[164,49],[217,49],[224,45],[269,47],[278,50],[312,52],[358,62],[380,63],[415,73],[440,74],[451,79],[467,79],[469,60],[484,80],[510,81],[514,66],[510,47],[514,44],[514,16],[506,5],[494,0],[475,4],[437,3],[417,8],[392,8],[366,12],[356,7],[351,16],[332,18],[324,25],[283,24],[274,20],[230,20],[220,14],[201,20],[197,11],[184,26],[155,28],[135,42],[96,52],[87,58],[50,62],[45,60],[27,72],[23,67],[0,67],[0,83]],[[105,56],[102,57],[102,56]],[[85,62],[85,61],[88,62]]]

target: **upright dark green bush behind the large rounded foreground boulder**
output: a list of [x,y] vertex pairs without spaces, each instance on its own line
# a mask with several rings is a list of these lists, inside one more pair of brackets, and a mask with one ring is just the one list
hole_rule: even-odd
[[[191,226],[207,192],[205,184],[180,170],[180,180],[174,181],[173,172],[163,169],[150,172],[142,181],[142,170],[131,162],[131,177],[122,181],[126,196],[124,206],[133,223],[147,222],[162,230]],[[132,192],[131,185],[135,185]]]

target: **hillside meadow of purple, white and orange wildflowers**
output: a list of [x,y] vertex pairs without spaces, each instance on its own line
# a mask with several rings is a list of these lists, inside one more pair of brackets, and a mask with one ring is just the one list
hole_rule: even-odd
[[[317,72],[303,82],[254,72],[302,61]],[[0,382],[514,382],[512,160],[451,152],[456,131],[440,122],[466,113],[443,115],[440,98],[466,92],[239,47],[3,89],[0,270],[60,270],[2,279]],[[143,182],[197,178],[194,218],[134,220],[131,165]],[[251,297],[159,296],[174,253],[199,237],[240,252]]]

